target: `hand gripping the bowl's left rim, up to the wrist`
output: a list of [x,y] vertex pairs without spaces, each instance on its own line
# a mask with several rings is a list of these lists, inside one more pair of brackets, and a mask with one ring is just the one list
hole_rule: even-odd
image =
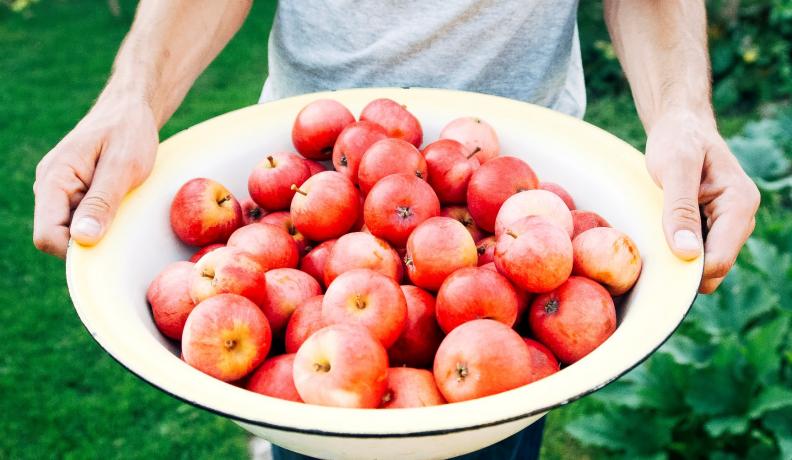
[[70,236],[96,244],[124,195],[148,177],[157,144],[148,104],[102,95],[36,168],[36,247],[64,257]]

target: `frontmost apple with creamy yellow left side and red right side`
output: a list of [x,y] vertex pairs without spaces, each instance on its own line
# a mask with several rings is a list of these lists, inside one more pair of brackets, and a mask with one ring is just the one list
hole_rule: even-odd
[[306,403],[373,409],[388,389],[388,355],[366,328],[334,324],[303,343],[293,375]]

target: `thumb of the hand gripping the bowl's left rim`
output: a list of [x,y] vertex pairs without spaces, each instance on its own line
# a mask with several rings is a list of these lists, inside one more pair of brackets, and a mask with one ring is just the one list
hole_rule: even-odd
[[69,231],[76,242],[92,246],[102,239],[127,192],[124,176],[122,170],[103,167],[100,159],[91,187],[72,217]]

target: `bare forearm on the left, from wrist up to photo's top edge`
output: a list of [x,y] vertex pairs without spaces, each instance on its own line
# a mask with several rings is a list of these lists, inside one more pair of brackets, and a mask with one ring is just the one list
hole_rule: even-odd
[[247,17],[252,0],[142,0],[102,98],[148,104],[158,126]]

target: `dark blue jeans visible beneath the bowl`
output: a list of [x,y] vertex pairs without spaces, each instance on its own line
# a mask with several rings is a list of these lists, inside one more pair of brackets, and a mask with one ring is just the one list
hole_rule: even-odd
[[[539,458],[539,448],[542,445],[543,432],[544,417],[534,422],[528,428],[503,441],[476,452],[454,457],[454,460],[537,460]],[[308,457],[273,445],[272,459],[313,460],[313,457]]]

